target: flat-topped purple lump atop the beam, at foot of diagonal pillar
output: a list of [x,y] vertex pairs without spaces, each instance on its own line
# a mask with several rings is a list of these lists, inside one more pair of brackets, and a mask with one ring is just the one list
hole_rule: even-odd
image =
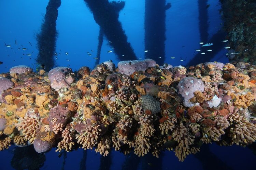
[[131,75],[136,71],[145,71],[147,68],[146,62],[133,60],[133,61],[122,61],[117,64],[120,73]]

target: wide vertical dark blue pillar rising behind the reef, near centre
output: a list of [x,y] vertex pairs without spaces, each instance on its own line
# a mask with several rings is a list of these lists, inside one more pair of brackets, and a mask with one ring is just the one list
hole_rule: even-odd
[[[145,58],[151,58],[162,65],[165,61],[166,10],[171,3],[166,0],[145,1]],[[161,58],[159,58],[161,57]]]

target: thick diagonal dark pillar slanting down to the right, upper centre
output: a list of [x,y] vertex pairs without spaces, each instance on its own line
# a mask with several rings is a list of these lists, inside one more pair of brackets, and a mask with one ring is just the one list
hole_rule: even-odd
[[[105,37],[114,47],[111,51],[115,52],[120,61],[136,60],[136,55],[127,41],[127,36],[118,20],[119,12],[125,6],[125,2],[109,2],[108,0],[84,0],[93,13],[94,19],[103,30]],[[124,56],[123,56],[124,55]]]

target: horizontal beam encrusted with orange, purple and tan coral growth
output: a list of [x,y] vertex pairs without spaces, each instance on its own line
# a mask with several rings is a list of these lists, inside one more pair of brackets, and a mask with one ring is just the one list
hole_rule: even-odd
[[[167,68],[168,67],[168,68]],[[0,74],[0,150],[33,144],[42,153],[111,148],[138,156],[173,150],[180,161],[202,143],[256,140],[256,66],[158,66],[111,61],[77,72],[16,66]]]

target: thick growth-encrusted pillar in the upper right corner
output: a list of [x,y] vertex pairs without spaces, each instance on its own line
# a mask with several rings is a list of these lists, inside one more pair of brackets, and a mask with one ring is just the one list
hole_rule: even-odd
[[220,14],[224,20],[224,29],[228,33],[230,62],[247,62],[256,65],[256,3],[255,0],[220,0]]

